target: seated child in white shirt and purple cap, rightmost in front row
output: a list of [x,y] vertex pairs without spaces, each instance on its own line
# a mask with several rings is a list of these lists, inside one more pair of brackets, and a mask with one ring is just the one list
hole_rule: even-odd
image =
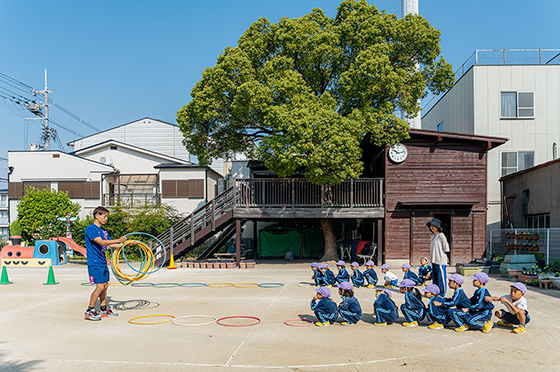
[[527,310],[527,299],[524,297],[527,292],[527,287],[521,282],[517,282],[510,286],[509,295],[502,297],[487,297],[486,301],[500,301],[506,306],[505,310],[498,310],[494,313],[501,327],[513,327],[515,333],[523,333],[526,331],[525,325],[529,323],[531,317]]

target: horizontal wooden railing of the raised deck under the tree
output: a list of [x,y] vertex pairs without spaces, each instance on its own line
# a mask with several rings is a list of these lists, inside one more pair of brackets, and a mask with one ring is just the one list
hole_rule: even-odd
[[319,186],[300,178],[236,179],[235,207],[383,207],[383,181],[383,178],[359,178]]

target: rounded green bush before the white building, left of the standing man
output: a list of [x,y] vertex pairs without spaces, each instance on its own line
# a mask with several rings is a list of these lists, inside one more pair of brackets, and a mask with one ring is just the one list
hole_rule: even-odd
[[26,190],[17,208],[21,237],[30,244],[37,239],[64,236],[66,224],[57,217],[80,211],[80,205],[72,203],[66,192],[35,188]]

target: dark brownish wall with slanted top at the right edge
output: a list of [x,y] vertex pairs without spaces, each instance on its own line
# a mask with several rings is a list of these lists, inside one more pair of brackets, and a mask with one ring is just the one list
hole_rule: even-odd
[[[504,194],[517,197],[508,199],[510,219],[514,228],[525,227],[525,215],[550,214],[550,227],[560,227],[560,161],[532,169],[503,180]],[[529,190],[525,200],[524,190]]]

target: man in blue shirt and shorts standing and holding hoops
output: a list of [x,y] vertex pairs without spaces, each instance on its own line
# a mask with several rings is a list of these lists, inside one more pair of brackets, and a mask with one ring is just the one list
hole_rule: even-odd
[[[109,233],[102,226],[107,223],[109,211],[103,207],[97,207],[93,211],[93,224],[86,228],[84,233],[86,241],[86,253],[88,264],[88,275],[91,284],[95,284],[95,290],[89,299],[89,307],[85,313],[87,320],[101,320],[101,317],[114,317],[118,314],[113,313],[107,307],[107,288],[109,287],[109,268],[105,251],[107,246],[117,248],[126,241],[126,237],[111,240]],[[95,303],[99,299],[100,313],[95,311]]]

